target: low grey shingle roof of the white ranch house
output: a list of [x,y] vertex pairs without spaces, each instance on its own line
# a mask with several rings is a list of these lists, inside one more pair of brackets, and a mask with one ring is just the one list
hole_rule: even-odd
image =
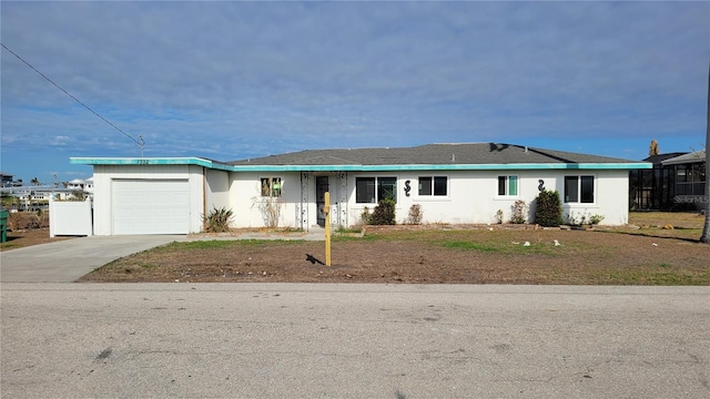
[[414,147],[306,150],[229,162],[231,165],[475,165],[636,163],[637,161],[514,144],[427,144]]

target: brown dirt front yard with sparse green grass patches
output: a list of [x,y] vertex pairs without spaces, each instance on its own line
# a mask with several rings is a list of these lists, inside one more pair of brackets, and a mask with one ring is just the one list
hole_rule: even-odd
[[639,214],[630,226],[595,231],[368,227],[362,238],[334,239],[332,266],[306,260],[325,262],[323,242],[173,243],[82,282],[710,285],[710,246],[697,242],[704,218],[669,215]]

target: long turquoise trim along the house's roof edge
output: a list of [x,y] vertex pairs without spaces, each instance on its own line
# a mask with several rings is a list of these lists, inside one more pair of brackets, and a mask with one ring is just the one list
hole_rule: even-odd
[[511,163],[430,165],[227,165],[201,157],[71,157],[80,165],[199,165],[230,172],[396,172],[396,171],[534,171],[534,170],[643,170],[649,162],[636,163]]

